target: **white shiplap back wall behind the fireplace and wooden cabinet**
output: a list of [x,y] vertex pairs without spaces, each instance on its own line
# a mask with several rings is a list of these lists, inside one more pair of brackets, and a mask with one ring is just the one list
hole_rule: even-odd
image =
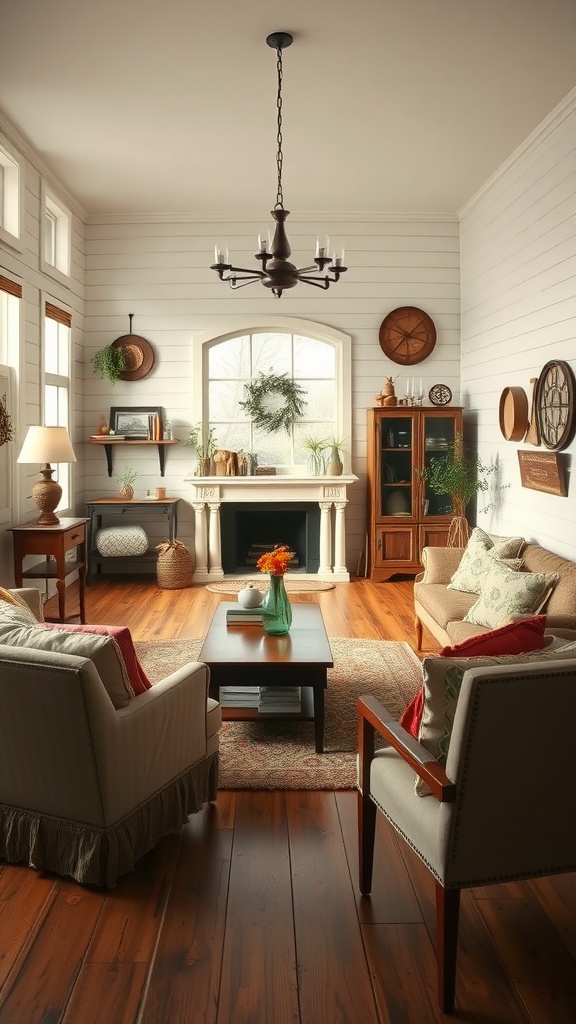
[[[323,292],[304,285],[277,300],[255,284],[233,292],[209,269],[215,242],[225,242],[231,258],[243,266],[255,264],[253,253],[261,222],[216,223],[172,218],[94,218],[86,228],[86,413],[85,435],[97,425],[100,411],[111,406],[163,406],[176,436],[184,439],[200,418],[192,406],[192,343],[205,332],[224,334],[244,323],[266,317],[294,316],[325,324],[352,336],[353,471],[360,482],[349,492],[347,510],[347,566],[356,572],[364,547],[366,409],[374,404],[386,376],[404,368],[386,359],[378,342],[381,321],[399,305],[425,309],[438,329],[438,342],[428,359],[411,370],[422,377],[426,390],[445,382],[459,399],[459,245],[453,216],[372,218],[330,221],[298,220],[292,215],[288,234],[293,259],[310,262],[318,233],[328,232],[344,245],[348,272],[340,284]],[[119,382],[112,388],[91,372],[90,358],[104,345],[132,330],[154,346],[156,364],[138,382]],[[400,392],[401,393],[401,392]],[[115,451],[116,466],[129,461],[140,476],[136,493],[160,482],[158,463],[148,449]],[[86,445],[84,498],[115,494],[117,484],[106,475],[104,453]],[[170,449],[167,493],[180,497],[180,539],[193,543],[190,485],[183,477],[194,461],[190,450]]]

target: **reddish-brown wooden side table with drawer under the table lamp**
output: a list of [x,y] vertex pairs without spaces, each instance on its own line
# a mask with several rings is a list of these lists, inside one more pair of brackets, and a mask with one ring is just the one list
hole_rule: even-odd
[[[86,622],[84,606],[84,584],[86,580],[86,523],[87,519],[61,518],[57,525],[39,526],[38,523],[23,523],[12,526],[14,542],[14,580],[22,587],[23,580],[55,580],[58,592],[58,617],[46,622],[66,622],[66,578],[78,570],[80,581],[80,622]],[[67,561],[66,553],[76,548],[76,558]],[[38,562],[23,571],[27,555],[45,555],[45,561]],[[76,616],[72,616],[76,617]]]

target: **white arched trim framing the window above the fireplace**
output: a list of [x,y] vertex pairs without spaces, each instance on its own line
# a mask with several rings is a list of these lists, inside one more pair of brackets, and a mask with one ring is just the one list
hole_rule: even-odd
[[258,334],[270,332],[276,334],[301,334],[318,341],[325,341],[334,348],[336,368],[336,422],[335,434],[343,437],[351,445],[352,457],[352,338],[342,331],[318,324],[316,321],[301,319],[296,316],[262,316],[261,319],[250,321],[238,317],[238,322],[229,331],[202,332],[195,335],[192,348],[192,423],[208,420],[208,360],[204,353],[205,347],[214,341],[225,341],[240,334]]

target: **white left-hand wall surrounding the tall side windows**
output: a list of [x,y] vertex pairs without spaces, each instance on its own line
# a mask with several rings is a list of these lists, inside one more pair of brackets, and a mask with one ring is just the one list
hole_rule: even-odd
[[[73,414],[71,436],[80,460],[83,438],[84,407],[84,230],[83,211],[74,199],[58,185],[42,161],[17,129],[4,116],[0,117],[0,132],[12,143],[24,161],[25,231],[22,251],[0,243],[0,268],[8,278],[23,286],[20,303],[19,366],[16,367],[17,414],[15,435],[11,442],[15,460],[31,424],[40,423],[40,359],[42,318],[46,300],[72,312]],[[40,209],[41,185],[46,181],[51,190],[72,211],[72,261],[68,287],[40,269]],[[82,464],[73,466],[73,488],[82,484]],[[13,525],[32,522],[37,508],[32,501],[32,486],[39,473],[34,466],[16,466],[15,508]],[[82,509],[82,506],[81,506]],[[69,513],[71,514],[71,513]],[[82,514],[80,511],[79,514]],[[37,558],[35,559],[38,560]],[[0,583],[13,580],[12,542],[7,530],[0,532]]]

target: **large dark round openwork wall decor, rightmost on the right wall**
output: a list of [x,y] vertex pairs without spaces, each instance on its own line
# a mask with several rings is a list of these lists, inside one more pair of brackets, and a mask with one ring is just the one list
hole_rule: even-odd
[[562,452],[574,434],[576,383],[568,362],[546,362],[536,385],[536,418],[542,444]]

